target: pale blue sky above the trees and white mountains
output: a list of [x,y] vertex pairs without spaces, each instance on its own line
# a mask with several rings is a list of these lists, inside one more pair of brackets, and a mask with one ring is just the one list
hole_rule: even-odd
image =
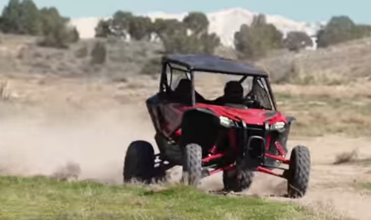
[[[0,0],[0,7],[8,0]],[[371,24],[369,0],[34,0],[39,7],[56,6],[64,16],[110,16],[114,11],[128,10],[134,13],[164,11],[212,12],[230,7],[242,7],[252,11],[279,14],[298,21],[324,21],[333,15],[347,15],[357,23]]]

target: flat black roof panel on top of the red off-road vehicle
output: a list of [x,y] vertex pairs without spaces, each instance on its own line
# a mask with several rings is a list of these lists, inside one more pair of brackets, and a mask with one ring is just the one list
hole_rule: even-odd
[[267,73],[253,67],[249,63],[234,61],[218,56],[201,54],[168,54],[163,57],[163,61],[185,66],[191,71],[267,76]]

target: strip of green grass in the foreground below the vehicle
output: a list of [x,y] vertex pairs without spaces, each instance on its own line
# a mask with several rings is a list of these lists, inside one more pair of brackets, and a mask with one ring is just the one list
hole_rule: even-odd
[[216,196],[185,186],[155,191],[43,177],[0,177],[0,220],[285,220],[311,219],[309,215],[292,203]]

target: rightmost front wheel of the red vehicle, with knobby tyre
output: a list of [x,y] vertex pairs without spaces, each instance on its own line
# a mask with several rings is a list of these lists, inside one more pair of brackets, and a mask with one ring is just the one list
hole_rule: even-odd
[[306,193],[311,170],[311,156],[308,147],[296,146],[291,151],[287,171],[288,197],[300,198]]

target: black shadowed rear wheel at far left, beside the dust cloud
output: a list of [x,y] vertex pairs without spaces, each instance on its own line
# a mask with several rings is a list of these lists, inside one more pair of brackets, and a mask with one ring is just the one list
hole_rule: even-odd
[[147,141],[133,141],[125,155],[124,182],[150,183],[154,173],[155,154]]

